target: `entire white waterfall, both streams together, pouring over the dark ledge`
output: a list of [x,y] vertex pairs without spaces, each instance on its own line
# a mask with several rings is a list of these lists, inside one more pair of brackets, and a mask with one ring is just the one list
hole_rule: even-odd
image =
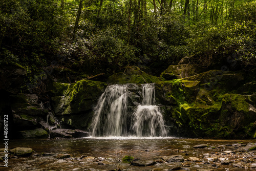
[[127,136],[129,130],[137,137],[167,136],[154,84],[142,84],[142,101],[133,113],[127,110],[127,94],[127,84],[106,88],[94,108],[92,136]]

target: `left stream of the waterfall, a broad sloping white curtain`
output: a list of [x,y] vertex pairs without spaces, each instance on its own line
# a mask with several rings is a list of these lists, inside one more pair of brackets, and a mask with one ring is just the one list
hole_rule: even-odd
[[127,85],[108,86],[94,108],[92,136],[126,134]]

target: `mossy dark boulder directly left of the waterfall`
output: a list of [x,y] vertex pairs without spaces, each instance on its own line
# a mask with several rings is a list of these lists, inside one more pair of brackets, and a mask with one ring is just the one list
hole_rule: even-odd
[[76,83],[53,83],[50,89],[52,109],[64,127],[87,130],[92,119],[92,109],[107,84],[80,80]]

